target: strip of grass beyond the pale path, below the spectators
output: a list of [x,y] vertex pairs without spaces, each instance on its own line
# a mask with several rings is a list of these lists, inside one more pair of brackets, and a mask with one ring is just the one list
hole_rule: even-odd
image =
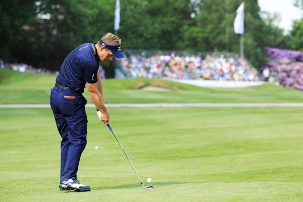
[[[46,104],[56,76],[0,69],[0,104]],[[245,88],[201,88],[155,79],[106,79],[106,103],[301,103],[303,92],[276,85]],[[171,91],[146,91],[153,85]],[[91,103],[87,89],[84,96]]]

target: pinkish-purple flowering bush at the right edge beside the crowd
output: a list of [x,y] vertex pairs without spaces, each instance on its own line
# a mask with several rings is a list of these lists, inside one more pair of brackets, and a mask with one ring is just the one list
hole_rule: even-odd
[[271,56],[268,66],[278,72],[280,84],[303,90],[303,55],[300,51],[283,50],[267,47],[266,53]]

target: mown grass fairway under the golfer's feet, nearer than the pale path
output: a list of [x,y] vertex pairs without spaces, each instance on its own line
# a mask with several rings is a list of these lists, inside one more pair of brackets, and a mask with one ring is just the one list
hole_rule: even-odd
[[112,133],[86,111],[78,179],[92,190],[76,193],[58,188],[61,139],[51,110],[0,109],[1,201],[303,201],[301,108],[109,108],[154,190],[143,190]]

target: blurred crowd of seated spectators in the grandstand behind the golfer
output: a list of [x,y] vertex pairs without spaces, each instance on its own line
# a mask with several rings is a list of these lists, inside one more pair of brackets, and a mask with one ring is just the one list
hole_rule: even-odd
[[130,55],[119,61],[130,77],[167,79],[205,79],[226,81],[260,81],[258,71],[237,55],[225,58],[207,55],[179,56],[175,54]]

